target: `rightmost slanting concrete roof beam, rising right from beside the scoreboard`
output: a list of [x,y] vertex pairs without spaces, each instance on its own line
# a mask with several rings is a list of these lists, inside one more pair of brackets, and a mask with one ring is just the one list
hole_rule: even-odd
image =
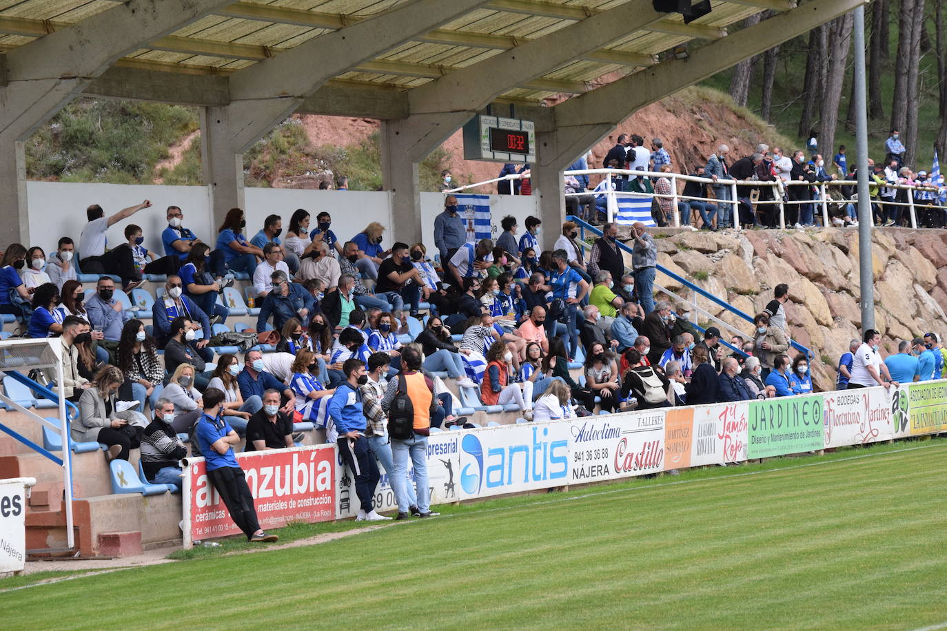
[[636,110],[865,3],[866,0],[808,2],[707,44],[687,60],[663,61],[564,101],[553,108],[557,131],[545,138],[549,147],[541,146],[537,157],[544,165],[567,166]]

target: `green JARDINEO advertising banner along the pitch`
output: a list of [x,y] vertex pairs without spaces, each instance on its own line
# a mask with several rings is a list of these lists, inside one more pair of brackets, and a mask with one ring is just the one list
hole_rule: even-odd
[[822,395],[750,401],[747,456],[770,458],[823,447]]

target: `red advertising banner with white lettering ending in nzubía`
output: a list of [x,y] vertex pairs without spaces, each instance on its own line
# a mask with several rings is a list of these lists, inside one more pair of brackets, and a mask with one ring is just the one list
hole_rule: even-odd
[[[260,528],[334,519],[335,453],[334,446],[320,445],[237,454],[256,500]],[[203,458],[188,462],[183,496],[185,547],[193,541],[241,532],[207,478]]]

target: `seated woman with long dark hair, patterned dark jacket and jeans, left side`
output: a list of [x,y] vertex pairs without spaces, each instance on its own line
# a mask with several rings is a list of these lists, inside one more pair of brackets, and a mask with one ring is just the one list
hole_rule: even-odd
[[165,368],[158,358],[154,339],[145,331],[145,324],[132,319],[121,330],[116,350],[116,366],[125,377],[124,386],[128,386],[123,398],[138,401],[138,412],[145,412],[145,402],[150,401],[152,411],[155,401],[161,394],[161,384],[165,380]]

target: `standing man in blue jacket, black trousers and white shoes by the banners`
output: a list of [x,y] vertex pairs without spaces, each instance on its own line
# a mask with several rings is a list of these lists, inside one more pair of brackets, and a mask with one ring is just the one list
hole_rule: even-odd
[[[375,486],[380,475],[378,464],[368,449],[366,438],[366,418],[363,410],[362,394],[359,386],[365,385],[368,376],[365,372],[365,362],[361,359],[349,358],[342,365],[342,372],[346,380],[339,384],[329,401],[329,415],[338,431],[339,455],[342,462],[355,477],[355,493],[361,502],[356,521],[385,521],[391,517],[384,517],[375,512],[372,499],[375,495]],[[392,479],[394,483],[394,479]]]

